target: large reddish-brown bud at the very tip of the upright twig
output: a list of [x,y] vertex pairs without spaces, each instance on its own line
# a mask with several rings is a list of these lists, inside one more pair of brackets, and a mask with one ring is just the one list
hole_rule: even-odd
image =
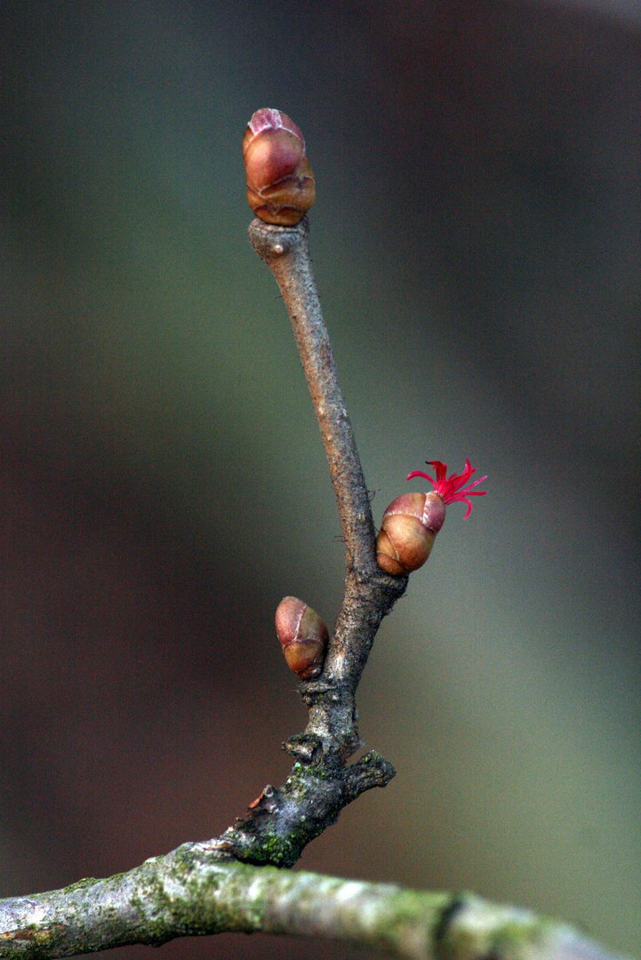
[[256,110],[243,137],[243,156],[253,212],[267,224],[295,227],[316,195],[305,140],[297,125],[280,110]]

